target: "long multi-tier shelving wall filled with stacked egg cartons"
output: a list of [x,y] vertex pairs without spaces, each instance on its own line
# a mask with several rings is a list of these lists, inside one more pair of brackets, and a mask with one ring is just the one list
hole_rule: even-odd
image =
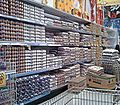
[[109,45],[111,29],[39,2],[5,0],[0,6],[0,60],[16,71],[12,103],[32,103],[86,75],[82,64],[99,65]]

